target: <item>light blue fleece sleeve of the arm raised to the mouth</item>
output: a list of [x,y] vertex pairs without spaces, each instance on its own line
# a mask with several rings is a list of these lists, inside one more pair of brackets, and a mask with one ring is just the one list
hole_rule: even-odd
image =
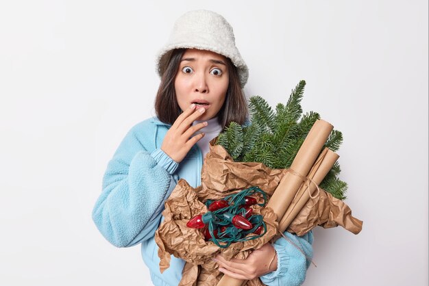
[[[149,153],[131,129],[109,161],[93,220],[117,247],[133,246],[154,235],[166,200],[177,182],[177,162],[160,148]],[[147,134],[145,134],[147,135]]]

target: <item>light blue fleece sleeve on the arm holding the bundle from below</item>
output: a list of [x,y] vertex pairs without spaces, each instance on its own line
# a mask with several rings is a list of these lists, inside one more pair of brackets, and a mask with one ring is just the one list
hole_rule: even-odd
[[302,285],[306,278],[306,270],[311,263],[312,231],[302,237],[287,231],[284,232],[284,235],[288,238],[287,240],[284,237],[280,237],[273,244],[278,257],[277,270],[260,277],[262,283],[268,286]]

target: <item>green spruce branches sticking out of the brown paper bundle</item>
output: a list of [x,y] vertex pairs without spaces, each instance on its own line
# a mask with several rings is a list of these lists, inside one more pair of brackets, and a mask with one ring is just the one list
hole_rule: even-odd
[[[289,168],[316,120],[317,112],[302,115],[301,101],[306,81],[299,81],[286,105],[278,103],[275,112],[261,96],[249,99],[250,125],[231,122],[219,134],[217,144],[223,146],[234,161],[260,162],[269,168]],[[343,142],[340,131],[332,130],[325,146],[338,151]],[[345,199],[347,183],[339,179],[338,162],[320,184],[332,196]]]

